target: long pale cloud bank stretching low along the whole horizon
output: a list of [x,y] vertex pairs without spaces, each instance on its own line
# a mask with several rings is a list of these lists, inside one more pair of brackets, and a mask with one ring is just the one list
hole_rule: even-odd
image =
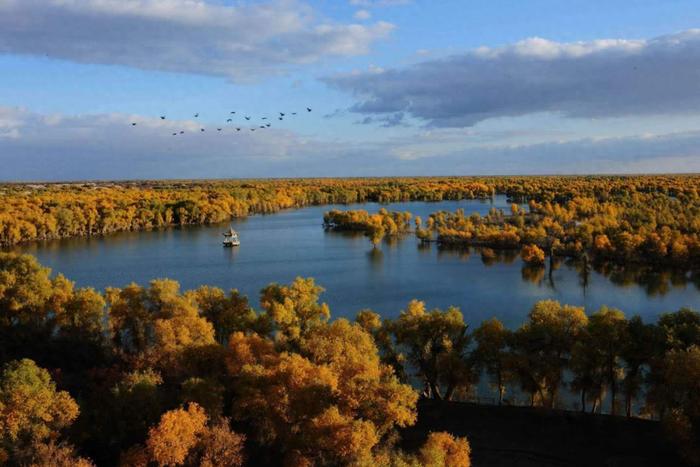
[[0,180],[700,172],[700,131],[494,144],[474,129],[357,142],[199,125],[0,107]]

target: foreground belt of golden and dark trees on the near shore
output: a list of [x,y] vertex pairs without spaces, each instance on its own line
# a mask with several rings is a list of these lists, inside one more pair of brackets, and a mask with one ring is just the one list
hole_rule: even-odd
[[413,300],[349,321],[331,319],[323,291],[272,283],[259,310],[168,279],[100,292],[0,253],[0,460],[468,466],[464,437],[406,448],[401,433],[419,400],[470,400],[483,382],[494,405],[659,420],[700,463],[697,311],[647,323],[546,300],[508,329]]

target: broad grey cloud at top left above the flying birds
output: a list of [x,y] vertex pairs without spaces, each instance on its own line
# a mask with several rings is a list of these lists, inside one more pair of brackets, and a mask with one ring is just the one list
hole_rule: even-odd
[[392,29],[330,22],[295,0],[0,0],[0,53],[234,80],[364,54]]

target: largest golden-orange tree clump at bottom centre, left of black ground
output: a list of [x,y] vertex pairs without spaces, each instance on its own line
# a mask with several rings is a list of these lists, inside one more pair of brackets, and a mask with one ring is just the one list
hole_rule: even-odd
[[299,353],[243,333],[230,337],[229,350],[235,417],[256,427],[259,442],[280,448],[287,465],[367,461],[383,434],[415,421],[417,394],[380,362],[357,324],[318,324],[298,342]]

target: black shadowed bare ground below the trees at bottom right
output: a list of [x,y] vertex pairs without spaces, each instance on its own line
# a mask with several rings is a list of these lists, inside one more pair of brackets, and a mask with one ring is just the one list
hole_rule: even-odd
[[636,418],[421,400],[403,447],[415,449],[431,431],[466,436],[475,467],[682,465],[660,423]]

